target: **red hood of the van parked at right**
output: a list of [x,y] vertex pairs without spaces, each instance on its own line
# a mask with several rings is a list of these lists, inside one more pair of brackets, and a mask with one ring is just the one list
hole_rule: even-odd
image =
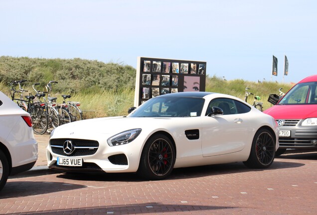
[[275,119],[305,119],[317,117],[317,105],[275,105],[263,112]]

